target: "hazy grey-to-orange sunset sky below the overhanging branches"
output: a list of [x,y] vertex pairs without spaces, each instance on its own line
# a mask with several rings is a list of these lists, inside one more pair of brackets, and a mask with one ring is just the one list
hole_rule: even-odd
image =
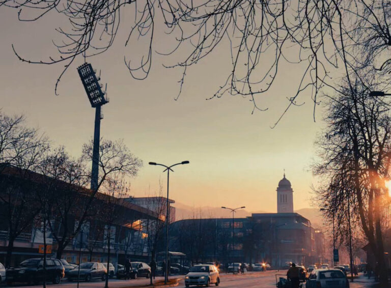
[[[79,156],[82,144],[93,137],[95,113],[76,71],[83,59],[78,58],[64,75],[60,95],[55,96],[54,83],[64,64],[22,63],[11,48],[14,44],[21,55],[32,60],[58,55],[51,40],[60,39],[54,28],[61,24],[64,22],[55,14],[36,22],[20,22],[16,10],[0,9],[0,107],[7,114],[25,114],[27,125],[39,127],[53,145],[64,145],[70,154]],[[175,101],[181,71],[164,68],[162,64],[169,60],[154,53],[148,78],[133,79],[124,55],[138,53],[140,47],[124,47],[126,32],[120,30],[109,51],[88,61],[101,70],[110,100],[103,106],[101,136],[124,139],[144,161],[131,180],[135,196],[153,195],[159,181],[166,192],[166,174],[148,162],[171,165],[188,160],[190,164],[177,166],[170,175],[170,198],[179,203],[276,212],[275,190],[285,169],[294,190],[294,208],[311,206],[315,179],[310,165],[313,142],[322,127],[321,110],[314,122],[313,102],[304,94],[301,100],[306,103],[290,109],[276,128],[270,128],[288,105],[286,97],[297,89],[300,74],[294,68],[280,67],[273,89],[257,96],[267,111],[252,114],[252,103],[241,96],[226,94],[206,100],[232,69],[228,45],[223,42],[187,71],[182,94]],[[158,35],[155,47],[165,47],[164,41]]]

